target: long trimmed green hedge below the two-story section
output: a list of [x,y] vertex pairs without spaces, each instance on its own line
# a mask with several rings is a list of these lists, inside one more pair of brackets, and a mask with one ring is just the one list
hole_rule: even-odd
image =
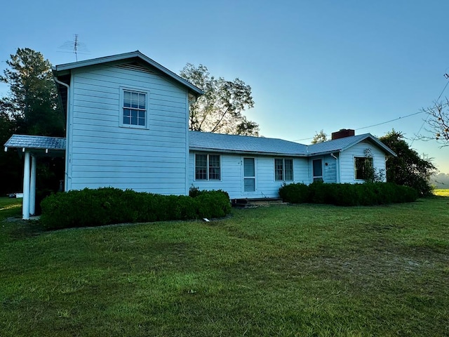
[[48,229],[220,218],[231,211],[227,192],[197,197],[161,195],[102,187],[52,194],[41,202],[41,223]]

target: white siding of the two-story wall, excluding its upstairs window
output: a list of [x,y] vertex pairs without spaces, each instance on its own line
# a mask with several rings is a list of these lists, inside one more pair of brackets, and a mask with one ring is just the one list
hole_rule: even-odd
[[[120,127],[121,87],[147,91],[147,128]],[[142,68],[72,73],[68,190],[105,186],[186,194],[187,89]]]

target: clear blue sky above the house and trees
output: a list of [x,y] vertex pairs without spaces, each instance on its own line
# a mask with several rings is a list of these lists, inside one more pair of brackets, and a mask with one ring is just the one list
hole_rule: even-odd
[[[2,11],[1,71],[25,47],[53,65],[74,62],[61,48],[74,34],[88,49],[79,60],[140,50],[177,73],[201,63],[253,88],[246,115],[262,136],[300,143],[340,128],[375,136],[394,128],[412,143],[426,134],[425,114],[372,125],[432,106],[448,82],[446,0],[25,0]],[[449,173],[449,147],[412,147]]]

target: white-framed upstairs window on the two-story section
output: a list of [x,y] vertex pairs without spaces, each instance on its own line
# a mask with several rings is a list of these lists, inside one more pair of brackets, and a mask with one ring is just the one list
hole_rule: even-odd
[[147,128],[147,97],[145,91],[121,89],[120,126]]

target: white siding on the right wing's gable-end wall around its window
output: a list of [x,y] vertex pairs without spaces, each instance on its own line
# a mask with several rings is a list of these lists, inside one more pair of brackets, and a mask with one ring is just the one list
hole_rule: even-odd
[[385,170],[385,154],[379,147],[365,140],[350,147],[340,154],[341,157],[341,183],[363,183],[363,180],[356,180],[354,171],[354,157],[365,157],[365,149],[369,148],[373,155],[373,165],[376,170]]

